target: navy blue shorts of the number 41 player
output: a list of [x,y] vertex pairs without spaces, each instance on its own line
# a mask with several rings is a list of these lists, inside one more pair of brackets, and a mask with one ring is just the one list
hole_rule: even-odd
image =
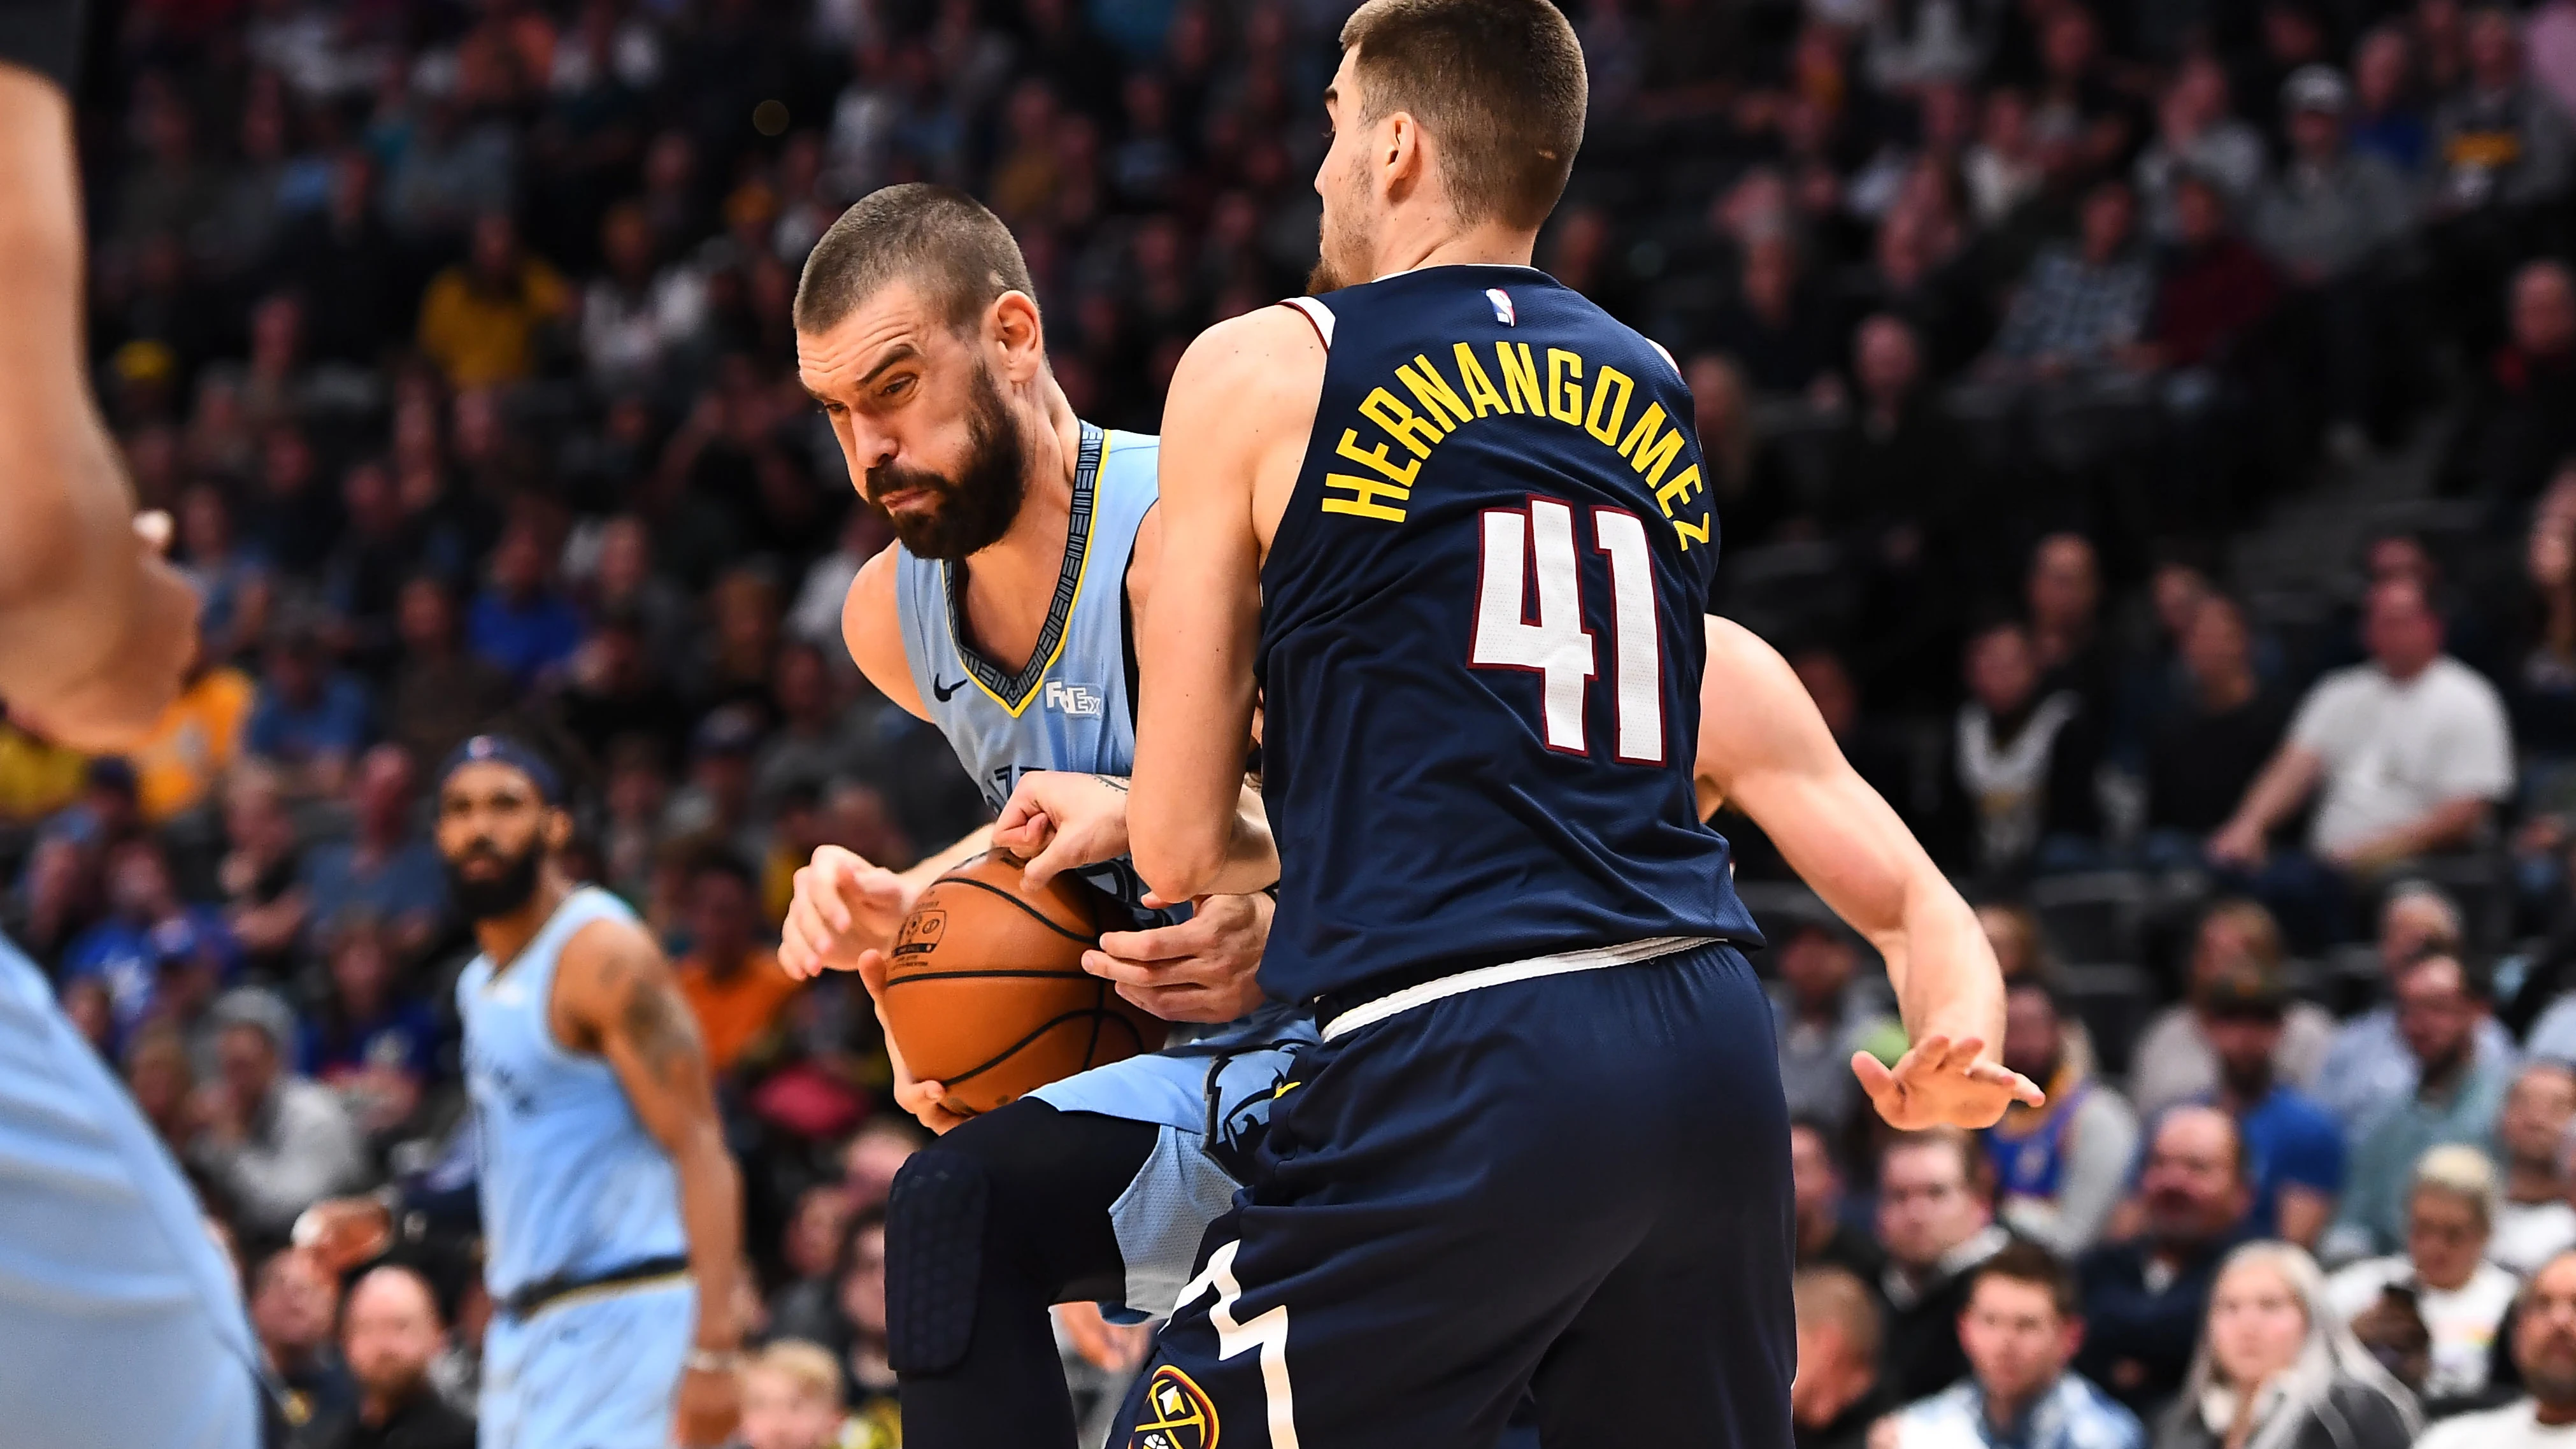
[[1734,947],[1327,1024],[1113,1449],[1788,1449],[1793,1261]]

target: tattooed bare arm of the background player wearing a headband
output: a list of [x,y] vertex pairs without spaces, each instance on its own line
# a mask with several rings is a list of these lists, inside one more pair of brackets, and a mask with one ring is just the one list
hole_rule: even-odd
[[574,1027],[572,1040],[608,1060],[644,1130],[662,1143],[677,1168],[688,1271],[698,1279],[693,1343],[711,1354],[732,1354],[742,1343],[742,1325],[734,1320],[742,1179],[724,1148],[698,1022],[680,999],[670,963],[641,929],[626,921],[592,921],[564,947],[556,993],[556,1011]]

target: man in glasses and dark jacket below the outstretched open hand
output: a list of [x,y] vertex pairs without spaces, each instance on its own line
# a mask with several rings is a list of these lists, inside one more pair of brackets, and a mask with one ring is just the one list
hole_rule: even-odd
[[1994,1220],[1991,1163],[1955,1127],[1906,1132],[1878,1150],[1878,1243],[1888,1269],[1886,1387],[1899,1403],[1929,1398],[1968,1372],[1958,1318],[1971,1271],[2012,1243]]

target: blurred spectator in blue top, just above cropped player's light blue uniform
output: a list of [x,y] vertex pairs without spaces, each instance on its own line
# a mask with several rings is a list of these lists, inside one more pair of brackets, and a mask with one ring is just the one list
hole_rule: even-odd
[[[170,857],[155,836],[108,852],[108,914],[62,952],[67,988],[80,981],[106,988],[111,1045],[149,1022],[188,1029],[240,965],[224,914],[178,898]],[[211,1068],[211,1060],[198,1066]]]

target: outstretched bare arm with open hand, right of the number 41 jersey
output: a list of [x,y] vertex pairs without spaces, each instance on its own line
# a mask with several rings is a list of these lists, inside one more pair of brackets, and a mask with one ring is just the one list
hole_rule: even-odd
[[[1708,620],[1703,795],[1752,816],[1816,896],[1878,947],[1914,1050],[1888,1073],[1855,1058],[1899,1127],[1986,1127],[2038,1089],[1996,1066],[2004,975],[1976,911],[1834,744],[1798,674],[1747,628]],[[1917,1058],[1929,1058],[1919,1066]],[[1873,1073],[1875,1068],[1875,1073]],[[1922,1073],[1922,1076],[1917,1076]]]

